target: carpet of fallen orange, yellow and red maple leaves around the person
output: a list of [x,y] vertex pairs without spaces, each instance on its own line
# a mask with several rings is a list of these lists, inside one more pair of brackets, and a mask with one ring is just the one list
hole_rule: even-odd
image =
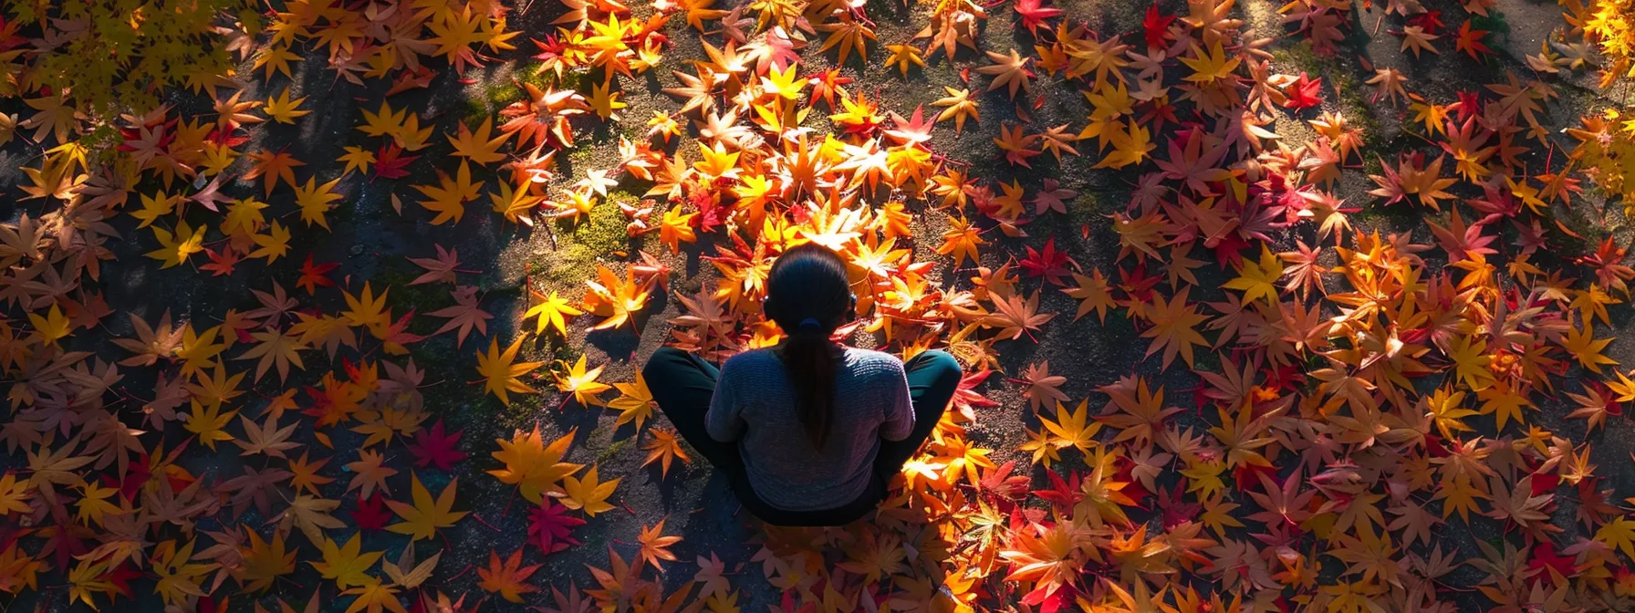
[[[124,67],[154,100],[118,114],[64,77],[87,44],[132,44],[85,7],[137,31],[181,8],[8,2],[0,590],[178,611],[1630,610],[1635,492],[1591,458],[1635,400],[1609,355],[1635,268],[1571,221],[1606,219],[1586,178],[1628,196],[1635,129],[1617,108],[1550,124],[1592,46],[1614,57],[1597,85],[1624,87],[1630,7],[1563,0],[1524,67],[1494,51],[1491,0],[1391,0],[1393,47],[1501,75],[1439,98],[1352,57],[1375,28],[1352,3],[1246,2],[1270,29],[1234,0],[1123,33],[1048,0],[211,3],[141,44],[242,74]],[[1282,49],[1357,62],[1367,106]],[[929,70],[958,78],[927,105],[876,85]],[[309,101],[342,82],[366,95]],[[438,88],[513,95],[461,113]],[[1073,119],[1035,119],[1058,93]],[[937,147],[950,132],[966,142]],[[1089,175],[1130,188],[1081,198]],[[417,276],[314,255],[373,248],[365,216],[414,227],[394,265]],[[489,248],[473,227],[566,250],[597,219],[634,248],[579,276],[464,263]],[[742,556],[679,554],[685,508],[605,535],[634,515],[621,489],[703,463],[649,381],[607,374],[646,356],[585,338],[770,347],[767,271],[803,242],[850,262],[853,338],[965,365],[924,453],[868,521],[755,526]],[[1006,360],[1068,325],[1144,360],[1107,379],[1071,351]],[[589,450],[564,417],[585,414],[634,445]],[[1001,445],[984,423],[1015,414]],[[528,425],[446,423],[489,415]],[[615,468],[631,454],[643,471]],[[541,572],[561,556],[590,562]]]

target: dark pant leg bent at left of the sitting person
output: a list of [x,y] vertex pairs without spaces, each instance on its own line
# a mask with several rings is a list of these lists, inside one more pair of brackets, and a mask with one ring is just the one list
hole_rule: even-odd
[[714,365],[674,347],[661,347],[641,368],[641,376],[647,381],[654,404],[670,418],[682,440],[728,476],[744,472],[737,445],[716,441],[705,430],[705,414],[714,397],[716,378],[721,376]]

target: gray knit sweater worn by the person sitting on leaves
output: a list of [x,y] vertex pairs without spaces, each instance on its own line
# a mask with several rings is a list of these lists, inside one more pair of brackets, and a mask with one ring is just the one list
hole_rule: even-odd
[[721,366],[705,425],[723,443],[737,441],[749,484],[768,505],[824,510],[868,489],[880,440],[914,430],[903,361],[889,353],[847,348],[835,368],[834,418],[822,450],[801,425],[783,361],[770,348],[739,353]]

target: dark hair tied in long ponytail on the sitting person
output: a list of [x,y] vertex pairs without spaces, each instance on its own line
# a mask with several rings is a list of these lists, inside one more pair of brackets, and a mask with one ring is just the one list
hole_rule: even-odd
[[853,311],[845,260],[819,244],[796,245],[767,273],[767,317],[788,333],[778,348],[783,369],[795,384],[801,423],[814,446],[822,448],[834,417],[834,371],[840,347],[829,340]]

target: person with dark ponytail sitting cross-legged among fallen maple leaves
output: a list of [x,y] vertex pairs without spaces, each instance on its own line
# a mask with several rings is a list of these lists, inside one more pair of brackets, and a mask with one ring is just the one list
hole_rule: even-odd
[[947,351],[907,363],[831,337],[857,298],[845,260],[801,244],[767,275],[765,314],[788,337],[716,369],[672,347],[643,376],[659,410],[726,474],[750,513],[778,526],[837,526],[886,499],[942,418],[961,368]]

